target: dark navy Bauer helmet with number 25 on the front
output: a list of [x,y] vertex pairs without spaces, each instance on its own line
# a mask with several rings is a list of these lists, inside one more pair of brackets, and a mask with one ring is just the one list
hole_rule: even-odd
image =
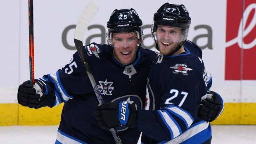
[[137,46],[141,45],[143,40],[142,21],[134,9],[115,9],[107,22],[107,42],[111,42],[113,33],[136,33],[139,40]]

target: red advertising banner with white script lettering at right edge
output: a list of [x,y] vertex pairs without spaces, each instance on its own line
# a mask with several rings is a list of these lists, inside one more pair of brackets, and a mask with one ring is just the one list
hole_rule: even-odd
[[227,0],[226,42],[225,80],[256,80],[255,0]]

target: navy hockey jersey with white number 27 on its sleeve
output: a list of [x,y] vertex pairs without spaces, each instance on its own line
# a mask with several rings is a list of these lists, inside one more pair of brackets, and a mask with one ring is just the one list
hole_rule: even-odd
[[142,144],[201,144],[211,137],[210,123],[197,116],[211,87],[211,75],[204,68],[201,50],[193,47],[186,42],[186,54],[160,55],[152,65],[147,82],[149,111],[138,110],[135,121]]

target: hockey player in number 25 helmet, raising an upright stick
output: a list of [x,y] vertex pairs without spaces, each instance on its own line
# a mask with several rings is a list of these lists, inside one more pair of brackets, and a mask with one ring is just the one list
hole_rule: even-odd
[[[142,109],[149,68],[158,53],[140,47],[142,21],[134,9],[114,10],[107,28],[109,45],[91,43],[84,47],[102,98],[104,102],[117,104],[134,102],[137,109]],[[18,103],[23,106],[38,109],[62,102],[65,104],[55,144],[115,143],[111,132],[102,130],[92,115],[98,100],[77,52],[69,64],[56,73],[36,79],[34,86],[29,85],[29,81],[19,86]],[[137,144],[139,130],[124,126],[116,129],[122,144]]]

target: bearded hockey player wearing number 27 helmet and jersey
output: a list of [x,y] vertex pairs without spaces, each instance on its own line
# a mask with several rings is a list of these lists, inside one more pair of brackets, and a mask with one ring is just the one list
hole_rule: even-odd
[[[137,128],[142,132],[142,144],[211,143],[211,125],[197,115],[211,81],[200,52],[192,50],[199,48],[186,42],[190,23],[184,5],[166,3],[158,9],[152,36],[156,35],[161,55],[152,64],[147,81],[146,107],[150,111],[136,110],[129,102],[103,104],[94,112],[102,128]],[[221,99],[219,102],[223,105]]]

